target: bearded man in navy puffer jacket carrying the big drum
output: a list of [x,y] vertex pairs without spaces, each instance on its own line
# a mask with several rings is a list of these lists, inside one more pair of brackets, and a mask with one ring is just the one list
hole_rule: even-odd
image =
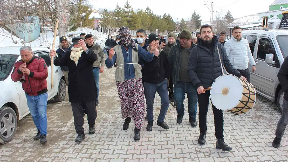
[[[210,96],[210,90],[204,91],[204,87],[211,87],[213,81],[223,74],[219,55],[222,64],[229,73],[241,79],[246,79],[230,64],[224,46],[219,43],[217,37],[213,37],[212,27],[210,25],[202,25],[200,33],[201,39],[198,39],[197,46],[192,49],[189,57],[187,75],[198,92],[200,128],[198,143],[204,145],[206,143],[206,116]],[[217,47],[219,48],[219,53]],[[217,138],[216,148],[222,149],[223,151],[230,151],[232,148],[224,142],[223,138],[224,120],[222,110],[215,108],[214,105],[212,105],[212,108],[215,122],[215,135]]]

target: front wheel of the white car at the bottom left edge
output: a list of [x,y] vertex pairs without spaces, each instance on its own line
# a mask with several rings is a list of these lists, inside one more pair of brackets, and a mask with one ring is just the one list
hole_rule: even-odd
[[0,144],[5,144],[14,137],[17,123],[17,116],[12,108],[0,108]]

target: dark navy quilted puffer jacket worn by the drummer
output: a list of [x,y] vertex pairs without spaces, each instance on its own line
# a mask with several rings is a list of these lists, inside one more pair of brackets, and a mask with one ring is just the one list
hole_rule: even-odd
[[192,48],[190,53],[187,75],[196,88],[200,86],[204,88],[211,87],[213,81],[222,75],[217,46],[219,48],[222,65],[228,73],[241,77],[240,73],[230,63],[226,55],[226,49],[219,43],[218,38],[213,37],[212,41],[215,42],[213,54],[211,54],[210,49],[203,45],[201,39],[198,40],[196,47]]

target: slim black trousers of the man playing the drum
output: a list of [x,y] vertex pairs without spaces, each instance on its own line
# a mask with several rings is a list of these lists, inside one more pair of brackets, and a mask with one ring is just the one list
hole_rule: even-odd
[[[199,105],[199,128],[200,131],[207,131],[207,112],[208,112],[208,105],[209,105],[209,96],[210,90],[206,91],[205,94],[198,94],[198,105]],[[215,108],[212,104],[213,114],[214,114],[214,126],[215,126],[215,135],[216,138],[223,138],[223,112]]]

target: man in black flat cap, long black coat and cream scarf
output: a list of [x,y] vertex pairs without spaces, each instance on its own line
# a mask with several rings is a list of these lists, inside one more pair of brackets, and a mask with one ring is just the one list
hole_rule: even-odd
[[93,63],[97,60],[97,56],[91,48],[86,47],[83,37],[74,37],[72,42],[71,51],[67,51],[64,57],[55,57],[54,49],[50,51],[50,56],[54,56],[54,65],[68,66],[69,102],[71,102],[74,126],[78,134],[75,142],[82,142],[85,139],[84,112],[88,118],[89,134],[95,133],[97,88],[93,75]]

